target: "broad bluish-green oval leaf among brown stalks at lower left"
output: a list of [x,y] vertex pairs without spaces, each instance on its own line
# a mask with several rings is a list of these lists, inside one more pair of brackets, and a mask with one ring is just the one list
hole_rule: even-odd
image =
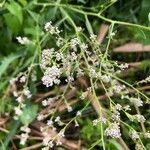
[[24,125],[30,124],[36,117],[38,111],[37,105],[28,105],[23,109],[23,113],[20,116],[20,121]]

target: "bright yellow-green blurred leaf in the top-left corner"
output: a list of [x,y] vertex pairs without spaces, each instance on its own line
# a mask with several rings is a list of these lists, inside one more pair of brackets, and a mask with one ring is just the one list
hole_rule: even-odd
[[10,4],[6,3],[5,6],[12,15],[18,18],[20,24],[22,24],[23,14],[21,6],[15,1],[11,1]]

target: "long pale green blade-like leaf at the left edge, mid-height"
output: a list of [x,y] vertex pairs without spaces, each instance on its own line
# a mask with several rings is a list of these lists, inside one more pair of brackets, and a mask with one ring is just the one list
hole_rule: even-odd
[[11,54],[8,57],[5,57],[2,61],[1,61],[1,65],[0,65],[0,79],[1,76],[3,75],[3,73],[6,71],[6,69],[8,68],[9,64],[11,62],[13,62],[15,59],[17,59],[18,57],[20,57],[21,55],[19,54]]

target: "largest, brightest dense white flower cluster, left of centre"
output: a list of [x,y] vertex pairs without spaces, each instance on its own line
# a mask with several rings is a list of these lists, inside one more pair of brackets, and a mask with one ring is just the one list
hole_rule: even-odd
[[59,84],[60,75],[61,75],[61,71],[57,66],[46,68],[46,71],[44,72],[44,76],[42,77],[43,84],[46,85],[46,87],[51,87],[54,84]]

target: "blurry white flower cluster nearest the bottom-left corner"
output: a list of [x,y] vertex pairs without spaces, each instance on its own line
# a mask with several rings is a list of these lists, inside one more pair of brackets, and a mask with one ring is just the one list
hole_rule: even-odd
[[22,126],[20,130],[24,132],[21,134],[20,144],[24,145],[29,137],[29,133],[31,132],[31,129],[27,126]]

